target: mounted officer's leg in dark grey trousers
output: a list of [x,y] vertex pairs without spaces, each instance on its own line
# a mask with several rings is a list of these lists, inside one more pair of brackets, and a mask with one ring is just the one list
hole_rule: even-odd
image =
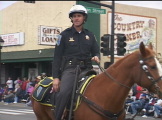
[[73,83],[75,79],[75,68],[67,69],[63,72],[61,78],[60,91],[56,95],[56,120],[61,120],[64,109],[71,97]]

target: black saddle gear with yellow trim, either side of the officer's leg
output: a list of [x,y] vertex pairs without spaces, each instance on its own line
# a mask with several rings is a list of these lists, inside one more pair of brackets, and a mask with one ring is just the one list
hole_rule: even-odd
[[[77,84],[77,92],[83,94],[88,84],[91,82],[92,78],[96,76],[96,71],[89,70],[83,71],[78,76],[78,84]],[[55,106],[54,104],[54,93],[51,92],[52,90],[52,83],[53,79],[50,77],[46,77],[38,83],[38,86],[33,92],[32,97],[43,105],[46,106]],[[79,94],[75,95],[75,104],[74,104],[74,111],[79,106],[81,98]],[[52,105],[53,104],[53,105]]]

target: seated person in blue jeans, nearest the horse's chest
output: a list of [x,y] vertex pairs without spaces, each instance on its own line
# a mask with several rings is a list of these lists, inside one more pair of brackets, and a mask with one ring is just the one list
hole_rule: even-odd
[[147,102],[149,102],[149,99],[146,97],[146,94],[141,94],[138,100],[130,103],[132,114],[136,114],[137,111],[142,109]]

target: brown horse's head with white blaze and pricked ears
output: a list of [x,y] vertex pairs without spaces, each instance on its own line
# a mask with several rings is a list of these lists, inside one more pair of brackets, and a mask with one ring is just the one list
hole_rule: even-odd
[[141,77],[137,80],[137,84],[162,97],[162,67],[151,43],[148,47],[143,42],[140,43],[139,64],[142,70],[139,73]]

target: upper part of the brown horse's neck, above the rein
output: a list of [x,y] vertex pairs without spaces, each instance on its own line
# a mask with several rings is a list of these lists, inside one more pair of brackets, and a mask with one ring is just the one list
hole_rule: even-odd
[[134,52],[118,60],[106,71],[114,77],[114,79],[131,87],[135,83],[136,78],[134,73],[137,71],[134,70],[136,70],[139,65],[139,53]]

